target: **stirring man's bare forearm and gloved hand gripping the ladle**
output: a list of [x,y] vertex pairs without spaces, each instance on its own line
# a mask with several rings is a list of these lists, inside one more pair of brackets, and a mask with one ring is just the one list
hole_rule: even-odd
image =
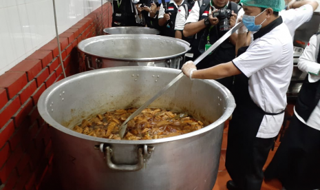
[[232,61],[215,65],[204,70],[195,70],[195,65],[192,61],[185,63],[182,67],[182,72],[188,77],[190,77],[191,70],[193,70],[191,77],[200,79],[218,79],[241,74],[241,71],[235,67]]

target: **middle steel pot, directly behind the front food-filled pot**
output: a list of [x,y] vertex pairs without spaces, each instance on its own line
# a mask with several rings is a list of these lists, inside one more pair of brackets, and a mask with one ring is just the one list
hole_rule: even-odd
[[78,50],[87,67],[157,66],[180,68],[190,44],[180,39],[149,34],[103,35],[85,39]]

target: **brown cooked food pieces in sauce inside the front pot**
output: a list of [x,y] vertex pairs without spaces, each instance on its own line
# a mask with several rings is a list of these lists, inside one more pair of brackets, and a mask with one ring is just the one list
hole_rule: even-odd
[[[120,140],[119,131],[123,122],[136,108],[117,109],[83,120],[74,131],[89,136]],[[127,124],[125,140],[151,140],[187,134],[202,129],[204,124],[187,114],[174,114],[165,109],[144,109]]]

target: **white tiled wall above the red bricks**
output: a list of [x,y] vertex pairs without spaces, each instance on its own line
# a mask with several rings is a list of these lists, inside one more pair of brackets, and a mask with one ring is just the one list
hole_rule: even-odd
[[[100,6],[101,0],[56,0],[59,34]],[[52,0],[0,0],[0,74],[54,36]]]

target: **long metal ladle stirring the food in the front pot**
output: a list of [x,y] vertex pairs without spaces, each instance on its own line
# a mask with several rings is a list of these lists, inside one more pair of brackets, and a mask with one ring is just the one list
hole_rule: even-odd
[[[219,45],[221,45],[226,39],[228,39],[229,36],[231,36],[231,34],[235,33],[235,31],[237,31],[240,27],[242,27],[242,25],[244,25],[242,22],[237,23],[237,25],[235,25],[233,28],[231,28],[231,30],[229,30],[228,32],[226,32],[226,34],[224,34],[219,40],[217,40],[215,43],[213,43],[213,45],[211,45],[211,47],[206,50],[203,54],[201,54],[197,59],[195,59],[195,61],[193,61],[193,63],[195,65],[197,65],[200,61],[202,61],[202,59],[204,59],[207,55],[209,55],[211,52],[213,52],[213,50],[215,50],[215,48],[217,48]],[[133,119],[134,117],[138,116],[138,114],[140,114],[142,112],[143,109],[145,109],[146,107],[148,107],[151,103],[153,103],[153,101],[156,101],[156,99],[161,96],[164,92],[166,92],[167,89],[169,89],[169,87],[171,87],[174,83],[176,83],[177,81],[179,81],[180,78],[182,78],[182,76],[184,76],[183,72],[180,72],[180,74],[178,74],[178,76],[176,76],[175,78],[173,78],[173,80],[167,84],[165,87],[163,87],[160,92],[158,92],[155,96],[153,96],[152,98],[149,99],[149,101],[145,102],[141,107],[139,107],[139,109],[136,110],[136,112],[134,112],[133,114],[131,114],[127,120],[125,120],[124,123],[122,123],[121,127],[120,127],[120,138],[122,139],[123,136],[125,136],[125,131],[127,129],[127,124],[129,122],[129,120]]]

